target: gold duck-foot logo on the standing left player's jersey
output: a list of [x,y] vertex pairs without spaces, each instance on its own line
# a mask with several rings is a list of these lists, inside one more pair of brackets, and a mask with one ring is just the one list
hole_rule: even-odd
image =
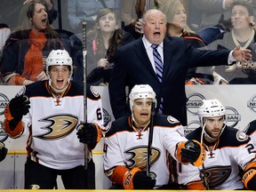
[[58,140],[66,137],[70,132],[73,132],[73,130],[76,129],[78,117],[70,114],[59,114],[55,116],[47,116],[40,119],[39,122],[47,122],[48,124],[41,128],[46,130],[46,132],[41,135],[36,135],[36,138],[43,140]]

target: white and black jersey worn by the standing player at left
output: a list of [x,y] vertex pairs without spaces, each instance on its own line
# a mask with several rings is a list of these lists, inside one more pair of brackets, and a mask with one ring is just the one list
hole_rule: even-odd
[[[30,109],[22,122],[28,128],[28,157],[52,169],[64,170],[84,164],[84,144],[76,135],[84,121],[84,89],[71,83],[66,92],[53,96],[48,81],[29,84],[23,91]],[[19,94],[20,94],[19,93]],[[103,125],[100,95],[87,89],[87,122]]]

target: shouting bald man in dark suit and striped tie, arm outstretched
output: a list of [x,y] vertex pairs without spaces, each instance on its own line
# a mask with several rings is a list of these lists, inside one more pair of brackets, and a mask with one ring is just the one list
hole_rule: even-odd
[[[183,38],[170,36],[164,38],[166,18],[159,10],[149,10],[144,14],[143,20],[144,36],[130,44],[125,44],[116,53],[108,86],[111,108],[116,119],[130,115],[126,105],[125,86],[127,85],[131,90],[134,84],[149,84],[156,92],[156,111],[160,108],[164,115],[173,116],[181,124],[186,125],[187,97],[184,82],[188,68],[228,65],[228,62],[252,58],[249,50],[240,50],[239,47],[231,53],[228,50],[206,51],[192,47]],[[154,57],[160,59],[157,53],[153,55],[152,44],[159,45],[157,48],[159,52],[161,50],[159,54],[161,60],[163,58],[164,71],[155,70]],[[161,61],[160,64],[163,63]],[[159,61],[156,64],[160,65]]]

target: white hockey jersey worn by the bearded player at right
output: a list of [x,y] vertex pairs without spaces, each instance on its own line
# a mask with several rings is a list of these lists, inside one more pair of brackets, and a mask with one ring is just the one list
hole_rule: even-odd
[[[188,140],[200,141],[202,128],[197,128],[194,132],[187,135]],[[255,147],[252,140],[236,128],[226,126],[220,135],[220,139],[214,144],[205,143],[206,159],[204,168],[200,166],[195,169],[192,165],[177,166],[178,181],[189,182],[193,180],[191,175],[202,176],[208,182],[210,189],[214,190],[234,190],[243,189],[244,184],[239,175],[240,169],[244,170],[252,159],[255,158]]]

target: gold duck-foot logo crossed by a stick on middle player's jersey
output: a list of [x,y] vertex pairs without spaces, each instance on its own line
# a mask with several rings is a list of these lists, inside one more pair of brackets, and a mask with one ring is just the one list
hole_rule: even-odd
[[[146,168],[147,165],[147,154],[148,146],[137,146],[134,148],[129,148],[124,151],[125,154],[128,154],[127,161],[130,162],[128,167],[140,167],[140,169]],[[160,157],[161,152],[158,148],[152,148],[150,164],[154,164],[156,160]]]

